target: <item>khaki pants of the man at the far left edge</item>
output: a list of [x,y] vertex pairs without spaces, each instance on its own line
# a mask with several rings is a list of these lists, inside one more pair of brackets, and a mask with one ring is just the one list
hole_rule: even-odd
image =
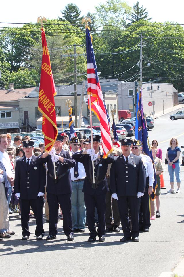
[[0,183],[0,233],[9,230],[9,207],[5,193],[5,184]]

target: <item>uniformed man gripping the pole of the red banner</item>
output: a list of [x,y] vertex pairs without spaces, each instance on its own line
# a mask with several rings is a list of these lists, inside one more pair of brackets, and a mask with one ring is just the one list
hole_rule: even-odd
[[[39,156],[40,163],[47,162],[47,202],[49,205],[49,236],[46,240],[56,239],[57,235],[57,211],[60,207],[63,213],[63,231],[67,240],[74,240],[72,232],[72,214],[71,214],[71,193],[72,181],[70,168],[74,167],[75,161],[72,153],[63,149],[64,137],[58,135],[50,155],[48,152]],[[56,154],[54,154],[56,152]],[[54,179],[54,167],[57,179]],[[58,204],[59,203],[59,204]]]

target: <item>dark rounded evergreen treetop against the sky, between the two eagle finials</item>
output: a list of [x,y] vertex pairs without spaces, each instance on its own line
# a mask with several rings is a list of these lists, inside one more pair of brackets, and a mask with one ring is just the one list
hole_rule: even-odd
[[77,5],[72,3],[67,4],[61,11],[61,13],[63,14],[63,18],[59,18],[60,20],[68,21],[71,24],[81,23],[81,11],[79,10],[79,7]]

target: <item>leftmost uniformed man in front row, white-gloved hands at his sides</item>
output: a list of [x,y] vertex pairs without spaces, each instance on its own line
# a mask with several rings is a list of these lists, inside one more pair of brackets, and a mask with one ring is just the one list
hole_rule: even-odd
[[25,156],[16,161],[15,195],[20,197],[22,240],[27,240],[29,232],[30,206],[36,219],[36,240],[43,239],[43,195],[46,174],[43,164],[37,163],[33,153],[34,141],[23,141]]

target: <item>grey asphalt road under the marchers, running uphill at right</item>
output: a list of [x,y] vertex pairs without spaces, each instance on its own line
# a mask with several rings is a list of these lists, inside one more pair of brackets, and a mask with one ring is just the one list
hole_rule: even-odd
[[[172,112],[173,113],[173,112]],[[184,119],[171,121],[168,115],[154,120],[149,131],[150,140],[157,139],[165,159],[171,137],[184,145]],[[164,165],[166,189],[160,197],[161,218],[152,221],[149,233],[140,233],[139,242],[120,243],[120,233],[106,234],[105,242],[87,243],[86,233],[74,234],[74,241],[66,241],[62,221],[58,222],[57,239],[35,241],[35,220],[30,220],[30,239],[21,241],[21,221],[18,214],[10,215],[11,239],[0,241],[1,276],[125,276],[157,277],[172,271],[184,256],[184,171],[181,166],[181,194],[167,194],[170,189],[167,166]],[[48,235],[48,223],[44,223]],[[16,255],[15,255],[16,254]]]

